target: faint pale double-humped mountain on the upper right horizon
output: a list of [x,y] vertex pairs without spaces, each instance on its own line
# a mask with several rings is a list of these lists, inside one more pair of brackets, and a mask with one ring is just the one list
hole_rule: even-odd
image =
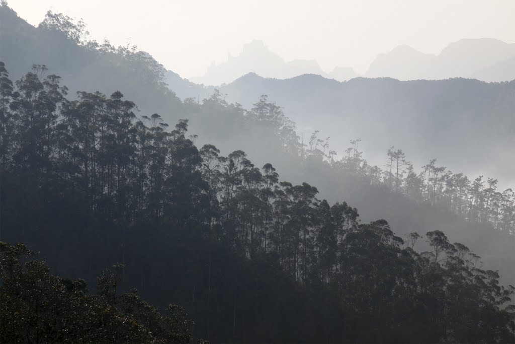
[[509,81],[513,72],[504,61],[515,57],[515,44],[491,38],[461,39],[450,43],[438,55],[423,54],[401,45],[380,54],[370,64],[366,77],[392,77],[399,80],[477,78]]

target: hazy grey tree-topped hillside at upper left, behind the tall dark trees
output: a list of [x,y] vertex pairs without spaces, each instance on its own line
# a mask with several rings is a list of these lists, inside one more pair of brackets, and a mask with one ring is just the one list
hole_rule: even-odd
[[[181,107],[163,82],[164,68],[148,53],[109,41],[84,41],[85,29],[70,18],[50,13],[47,19],[34,27],[11,8],[0,7],[0,57],[14,80],[40,64],[61,77],[72,97],[77,91],[119,90],[138,101],[141,110]],[[184,81],[180,89],[189,85]]]

